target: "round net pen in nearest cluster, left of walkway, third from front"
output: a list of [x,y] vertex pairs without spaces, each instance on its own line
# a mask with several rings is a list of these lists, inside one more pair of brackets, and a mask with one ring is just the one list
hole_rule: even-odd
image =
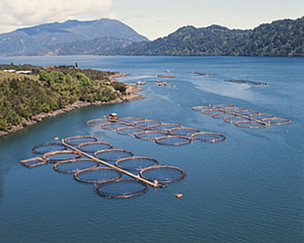
[[69,159],[54,164],[54,170],[63,173],[75,173],[79,170],[98,167],[99,163],[92,159]]

